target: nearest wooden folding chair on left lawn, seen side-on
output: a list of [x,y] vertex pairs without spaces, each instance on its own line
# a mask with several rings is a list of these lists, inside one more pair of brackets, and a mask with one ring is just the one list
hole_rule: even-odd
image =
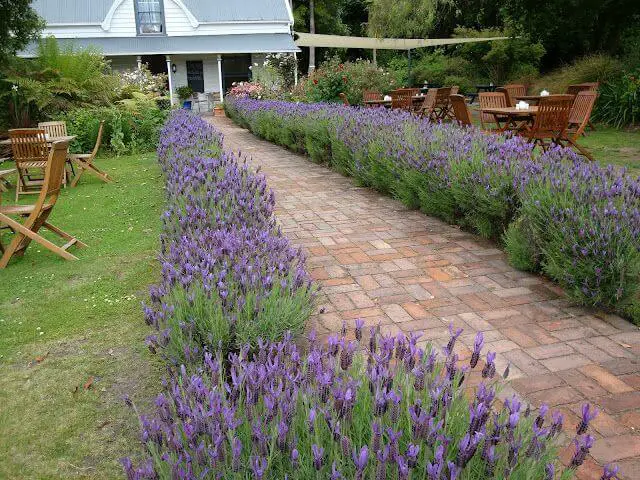
[[[0,225],[6,225],[14,232],[11,243],[4,249],[4,254],[0,258],[0,269],[5,268],[13,256],[24,255],[32,240],[66,260],[77,260],[67,251],[72,245],[86,247],[77,238],[47,221],[60,194],[68,146],[68,142],[53,143],[45,167],[40,196],[35,205],[0,205]],[[25,220],[20,223],[12,217],[25,218]],[[67,242],[59,247],[38,234],[41,228],[46,228]]]

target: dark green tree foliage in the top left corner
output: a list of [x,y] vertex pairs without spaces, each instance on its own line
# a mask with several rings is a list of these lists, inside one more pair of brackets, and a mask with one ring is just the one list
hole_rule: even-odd
[[0,62],[37,39],[43,28],[31,0],[0,0]]

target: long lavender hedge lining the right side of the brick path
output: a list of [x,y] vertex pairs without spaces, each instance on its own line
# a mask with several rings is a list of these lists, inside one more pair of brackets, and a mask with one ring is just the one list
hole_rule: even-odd
[[502,242],[514,266],[579,303],[640,323],[640,178],[404,112],[232,97],[225,108],[258,136]]

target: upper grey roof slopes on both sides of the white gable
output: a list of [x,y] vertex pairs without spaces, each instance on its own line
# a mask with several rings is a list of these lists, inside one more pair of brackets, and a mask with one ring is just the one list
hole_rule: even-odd
[[[134,0],[135,1],[135,0]],[[172,2],[174,0],[164,0]],[[288,22],[289,0],[177,0],[198,23]],[[122,0],[33,0],[32,6],[49,25],[98,24]]]

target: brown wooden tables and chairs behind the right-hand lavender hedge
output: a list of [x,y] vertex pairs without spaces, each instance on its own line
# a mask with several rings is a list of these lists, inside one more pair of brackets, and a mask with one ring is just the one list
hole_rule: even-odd
[[[591,153],[578,143],[590,122],[591,112],[598,97],[597,83],[570,85],[567,92],[551,95],[527,95],[525,85],[510,84],[485,88],[474,94],[478,104],[475,110],[480,125],[487,133],[511,132],[529,139],[543,149],[551,144],[574,148],[577,153],[593,160]],[[401,109],[429,118],[431,121],[456,121],[472,125],[472,111],[457,86],[429,88],[402,88],[389,95],[363,92],[363,103],[368,108]],[[341,95],[345,104],[345,96]]]

